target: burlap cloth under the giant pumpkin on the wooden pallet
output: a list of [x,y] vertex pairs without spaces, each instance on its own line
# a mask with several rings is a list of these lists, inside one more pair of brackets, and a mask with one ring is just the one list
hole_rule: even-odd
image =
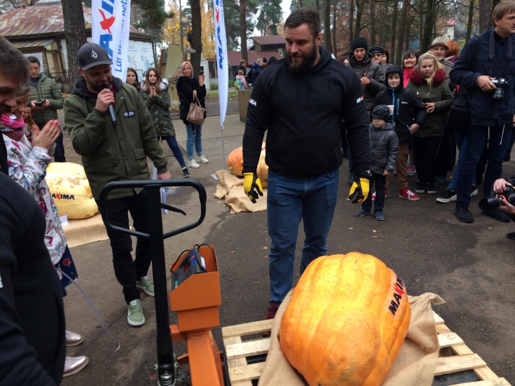
[[[302,376],[289,364],[279,345],[279,326],[291,300],[291,290],[277,311],[270,336],[270,349],[258,386],[305,386]],[[411,321],[399,355],[382,386],[430,386],[438,359],[438,338],[431,303],[445,303],[434,293],[408,296]],[[345,337],[335,337],[345,339]],[[323,386],[323,385],[322,385]]]

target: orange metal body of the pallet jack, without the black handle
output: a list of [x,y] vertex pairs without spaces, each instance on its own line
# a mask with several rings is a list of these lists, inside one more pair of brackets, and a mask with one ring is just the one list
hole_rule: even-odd
[[[188,277],[169,294],[170,310],[177,311],[178,321],[170,326],[171,340],[186,341],[188,354],[179,358],[179,364],[190,364],[193,386],[224,385],[220,351],[211,332],[220,325],[218,306],[221,305],[218,262],[213,245],[211,249],[200,247],[208,272]],[[187,254],[171,266],[172,272]]]

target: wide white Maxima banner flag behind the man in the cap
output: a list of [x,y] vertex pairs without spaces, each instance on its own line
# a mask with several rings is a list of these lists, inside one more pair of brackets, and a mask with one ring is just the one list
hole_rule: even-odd
[[113,76],[125,82],[129,62],[130,0],[93,0],[91,22],[93,43],[106,49],[113,61]]

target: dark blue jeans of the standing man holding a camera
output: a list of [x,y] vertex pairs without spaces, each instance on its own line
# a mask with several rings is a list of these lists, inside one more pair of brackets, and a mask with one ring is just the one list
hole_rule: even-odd
[[488,141],[488,132],[490,132],[490,141],[488,141],[488,166],[483,185],[483,197],[490,197],[492,184],[501,178],[503,172],[504,154],[510,142],[511,131],[511,124],[504,127],[490,126],[490,128],[469,125],[466,146],[461,146],[465,147],[465,159],[459,171],[456,206],[469,206],[472,179]]

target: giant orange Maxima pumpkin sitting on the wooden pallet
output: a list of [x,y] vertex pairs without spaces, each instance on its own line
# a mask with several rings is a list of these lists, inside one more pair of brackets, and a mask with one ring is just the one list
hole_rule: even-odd
[[322,256],[300,277],[279,341],[310,386],[379,386],[410,316],[404,282],[384,262],[357,252]]

